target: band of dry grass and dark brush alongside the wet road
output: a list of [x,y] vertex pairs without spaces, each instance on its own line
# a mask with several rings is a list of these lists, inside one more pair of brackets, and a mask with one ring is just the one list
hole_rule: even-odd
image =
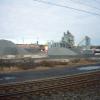
[[95,60],[90,59],[72,59],[69,61],[56,61],[56,60],[42,60],[40,62],[35,63],[34,61],[25,61],[20,63],[9,63],[0,62],[0,72],[14,72],[14,71],[22,71],[22,70],[35,70],[38,67],[43,68],[53,68],[58,66],[66,66],[66,67],[75,67],[77,65],[88,65],[96,63]]

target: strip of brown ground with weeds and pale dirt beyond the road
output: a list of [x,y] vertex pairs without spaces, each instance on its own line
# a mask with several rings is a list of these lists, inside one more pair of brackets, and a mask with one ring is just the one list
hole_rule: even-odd
[[80,65],[96,64],[99,61],[94,59],[21,59],[0,61],[0,73],[26,71],[26,70],[48,70],[51,68],[77,67]]

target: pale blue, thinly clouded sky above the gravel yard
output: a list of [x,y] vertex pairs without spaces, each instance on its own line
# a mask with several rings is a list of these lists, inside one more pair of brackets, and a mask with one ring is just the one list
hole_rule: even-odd
[[[40,1],[100,14],[99,0]],[[100,16],[34,0],[0,0],[0,39],[14,43],[36,43],[38,40],[45,44],[51,40],[60,41],[67,30],[75,36],[76,44],[89,36],[92,45],[100,45]]]

